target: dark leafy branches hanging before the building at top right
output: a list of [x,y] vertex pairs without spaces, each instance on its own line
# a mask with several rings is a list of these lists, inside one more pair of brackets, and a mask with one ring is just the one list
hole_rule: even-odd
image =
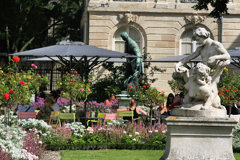
[[193,8],[195,10],[208,10],[209,5],[211,5],[213,10],[210,12],[209,16],[220,18],[224,14],[229,14],[227,8],[228,2],[229,0],[198,0]]

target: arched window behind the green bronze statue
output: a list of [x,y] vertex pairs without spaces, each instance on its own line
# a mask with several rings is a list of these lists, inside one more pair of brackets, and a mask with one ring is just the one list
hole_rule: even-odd
[[121,38],[120,34],[122,32],[127,32],[129,37],[131,37],[139,46],[140,50],[142,50],[142,38],[141,34],[138,30],[136,30],[133,27],[127,26],[127,27],[121,27],[119,28],[115,34],[114,34],[114,49],[115,51],[124,52],[125,49],[125,42]]

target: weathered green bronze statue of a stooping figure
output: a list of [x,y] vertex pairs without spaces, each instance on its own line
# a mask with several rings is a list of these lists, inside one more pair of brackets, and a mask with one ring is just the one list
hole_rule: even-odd
[[137,56],[137,58],[127,58],[126,63],[126,80],[124,85],[139,85],[139,78],[144,74],[144,66],[142,62],[142,54],[137,43],[128,36],[126,32],[121,33],[122,39],[125,41],[125,53]]

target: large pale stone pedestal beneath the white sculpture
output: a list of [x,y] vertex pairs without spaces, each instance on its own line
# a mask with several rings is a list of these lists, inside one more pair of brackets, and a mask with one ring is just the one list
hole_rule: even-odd
[[167,144],[160,160],[234,160],[234,119],[168,117]]

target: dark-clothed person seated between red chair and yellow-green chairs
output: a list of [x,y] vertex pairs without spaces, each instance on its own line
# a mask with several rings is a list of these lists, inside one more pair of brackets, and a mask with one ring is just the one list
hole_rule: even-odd
[[49,119],[51,112],[53,111],[52,105],[54,104],[54,101],[51,97],[47,97],[44,101],[44,106],[40,109],[40,111],[37,114],[37,119]]

